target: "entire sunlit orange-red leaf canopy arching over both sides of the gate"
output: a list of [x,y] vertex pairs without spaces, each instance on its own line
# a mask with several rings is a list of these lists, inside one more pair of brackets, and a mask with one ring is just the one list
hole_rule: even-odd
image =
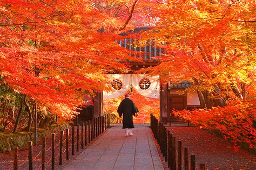
[[166,54],[143,72],[160,75],[162,82],[193,82],[188,90],[207,94],[207,108],[217,100],[227,105],[253,98],[254,3],[1,1],[1,81],[71,118],[74,107],[86,102],[85,93],[106,88],[105,74],[125,73],[128,60],[142,60],[114,40],[149,26],[140,40],[165,43]]

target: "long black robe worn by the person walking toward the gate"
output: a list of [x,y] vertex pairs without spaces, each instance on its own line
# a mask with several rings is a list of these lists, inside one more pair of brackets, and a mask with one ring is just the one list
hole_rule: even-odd
[[132,122],[132,115],[136,116],[135,114],[139,112],[135,104],[133,103],[130,98],[125,98],[120,104],[117,109],[117,112],[120,117],[123,114],[123,129],[125,128],[134,128]]

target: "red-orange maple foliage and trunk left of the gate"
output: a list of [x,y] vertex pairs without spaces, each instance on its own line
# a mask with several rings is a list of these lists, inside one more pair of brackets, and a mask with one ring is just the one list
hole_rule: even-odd
[[126,70],[114,39],[137,2],[1,2],[1,82],[24,95],[28,130],[37,109],[70,119],[85,93],[103,90],[104,73]]

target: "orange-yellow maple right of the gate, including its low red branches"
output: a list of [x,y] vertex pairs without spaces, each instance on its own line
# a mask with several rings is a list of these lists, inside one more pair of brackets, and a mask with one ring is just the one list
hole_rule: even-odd
[[[189,80],[201,108],[176,111],[234,143],[255,147],[255,8],[253,1],[168,1],[145,39],[166,42],[167,54],[151,74],[164,82]],[[146,37],[147,36],[147,37]],[[217,107],[217,108],[216,108]]]

